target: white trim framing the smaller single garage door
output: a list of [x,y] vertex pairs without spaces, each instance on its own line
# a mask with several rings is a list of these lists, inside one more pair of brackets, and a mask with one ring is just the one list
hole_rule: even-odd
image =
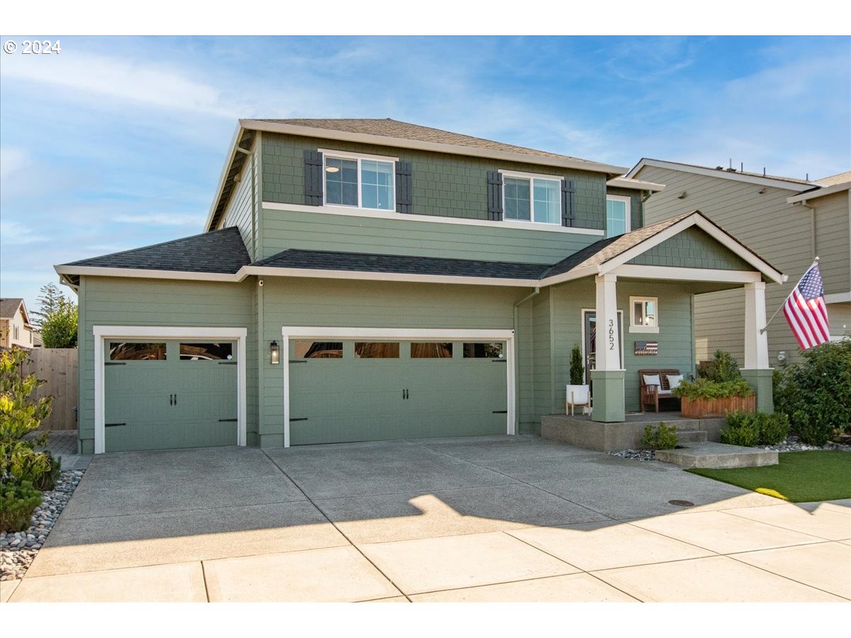
[[237,339],[237,445],[246,439],[245,338],[248,328],[193,328],[191,326],[94,326],[94,453],[105,451],[106,388],[104,342],[106,339]]

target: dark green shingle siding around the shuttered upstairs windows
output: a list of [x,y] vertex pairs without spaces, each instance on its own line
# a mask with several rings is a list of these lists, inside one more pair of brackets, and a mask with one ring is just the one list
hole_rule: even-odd
[[397,157],[411,162],[412,214],[488,219],[488,171],[512,170],[572,180],[576,189],[577,225],[597,230],[605,227],[606,175],[602,173],[271,133],[263,134],[263,201],[305,203],[304,151],[317,149]]

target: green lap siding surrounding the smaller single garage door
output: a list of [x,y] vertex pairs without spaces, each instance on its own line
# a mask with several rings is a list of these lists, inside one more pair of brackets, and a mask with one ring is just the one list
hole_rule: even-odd
[[[118,277],[81,277],[79,315],[79,438],[94,452],[94,327],[179,326],[248,328],[246,382],[257,385],[254,282],[183,282]],[[257,403],[247,402],[248,440],[257,430]]]

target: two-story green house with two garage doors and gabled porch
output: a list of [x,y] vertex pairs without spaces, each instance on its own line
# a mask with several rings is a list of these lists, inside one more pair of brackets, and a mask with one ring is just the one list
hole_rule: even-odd
[[81,449],[533,432],[574,343],[593,419],[623,421],[638,369],[694,373],[693,294],[727,288],[771,409],[784,276],[694,207],[645,225],[664,186],[624,172],[390,119],[241,120],[202,234],[56,266]]

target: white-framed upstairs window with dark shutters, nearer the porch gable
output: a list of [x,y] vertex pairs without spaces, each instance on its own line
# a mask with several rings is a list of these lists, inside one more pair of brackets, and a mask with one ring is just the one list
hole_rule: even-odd
[[562,224],[562,178],[500,171],[503,219]]

